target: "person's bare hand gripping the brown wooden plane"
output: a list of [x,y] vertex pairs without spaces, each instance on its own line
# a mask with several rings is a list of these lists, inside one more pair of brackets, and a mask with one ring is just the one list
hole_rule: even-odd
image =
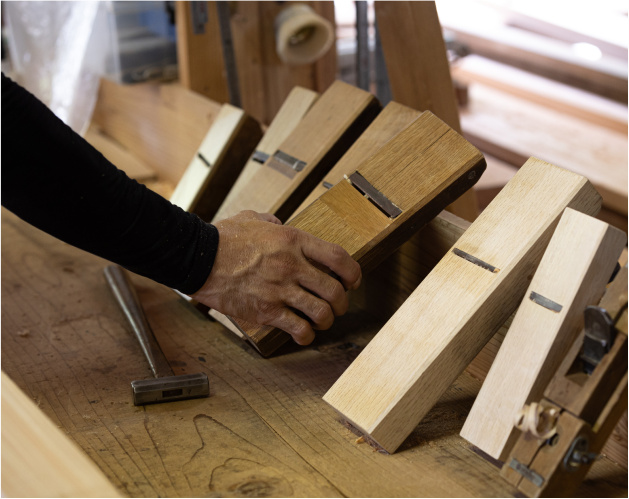
[[345,290],[357,289],[362,274],[341,246],[254,211],[215,226],[216,260],[205,285],[192,295],[195,300],[233,318],[277,327],[300,345],[310,344],[314,330],[329,329],[334,316],[347,312]]

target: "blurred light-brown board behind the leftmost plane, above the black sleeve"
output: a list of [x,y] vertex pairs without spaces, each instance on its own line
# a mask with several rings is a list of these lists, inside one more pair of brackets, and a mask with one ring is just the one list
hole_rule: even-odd
[[103,79],[92,122],[176,184],[220,109],[179,85],[118,85]]

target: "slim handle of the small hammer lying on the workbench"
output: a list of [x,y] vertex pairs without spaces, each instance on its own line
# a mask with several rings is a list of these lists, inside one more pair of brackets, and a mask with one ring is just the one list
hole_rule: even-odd
[[159,343],[155,339],[140,299],[125,270],[119,265],[110,265],[105,268],[104,272],[107,283],[118,301],[118,305],[120,305],[129,324],[131,324],[136,338],[140,342],[153,375],[156,378],[174,376],[173,370],[164,356],[164,352],[162,352]]

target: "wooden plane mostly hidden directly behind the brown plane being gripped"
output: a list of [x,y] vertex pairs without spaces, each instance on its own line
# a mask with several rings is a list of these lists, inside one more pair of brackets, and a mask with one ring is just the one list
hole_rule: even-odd
[[306,209],[325,194],[328,189],[343,180],[344,175],[355,172],[364,161],[378,152],[381,147],[419,118],[420,115],[420,111],[403,106],[397,102],[387,104],[367,130],[323,178],[323,181],[301,203],[293,216]]

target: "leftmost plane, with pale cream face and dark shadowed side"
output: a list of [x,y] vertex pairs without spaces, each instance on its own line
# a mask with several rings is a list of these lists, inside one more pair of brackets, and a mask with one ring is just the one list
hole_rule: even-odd
[[261,137],[257,121],[223,104],[170,201],[211,221]]

